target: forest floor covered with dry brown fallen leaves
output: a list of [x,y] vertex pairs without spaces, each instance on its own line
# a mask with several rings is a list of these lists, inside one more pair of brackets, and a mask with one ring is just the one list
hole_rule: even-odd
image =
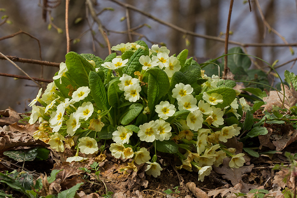
[[[289,169],[290,161],[284,156],[285,151],[295,153],[297,148],[297,130],[289,124],[265,124],[268,129],[267,135],[260,135],[254,138],[259,145],[259,157],[245,155],[244,166],[236,169],[229,168],[229,158],[224,159],[224,163],[219,167],[214,167],[209,176],[205,176],[204,181],[198,180],[197,172],[189,172],[176,167],[180,166],[178,158],[174,155],[158,153],[159,163],[163,171],[157,178],[146,175],[145,165],[136,165],[137,171],[124,170],[132,160],[115,159],[107,149],[105,153],[93,155],[80,155],[88,157],[84,162],[66,162],[66,158],[75,155],[75,151],[66,149],[64,152],[57,152],[40,140],[35,140],[32,135],[36,131],[38,124],[30,125],[19,122],[20,114],[13,109],[0,111],[0,170],[2,173],[9,173],[13,170],[25,171],[33,175],[34,181],[37,178],[46,180],[51,175],[52,170],[63,170],[56,175],[50,185],[43,182],[43,191],[39,195],[46,193],[58,194],[62,190],[83,182],[77,190],[76,198],[96,198],[113,192],[109,197],[186,197],[186,198],[207,198],[207,197],[228,197],[236,198],[239,195],[249,198],[265,197],[292,197],[294,181],[296,175],[292,175]],[[259,112],[254,117],[259,117]],[[9,126],[9,127],[7,127]],[[106,145],[112,142],[107,141]],[[255,142],[253,142],[255,144]],[[235,137],[227,144],[233,145],[239,152],[243,150],[243,145]],[[3,151],[29,149],[36,146],[45,146],[50,150],[47,160],[33,160],[17,162],[6,155]],[[272,152],[273,151],[273,152]],[[98,181],[92,175],[84,172],[79,167],[90,169],[91,165],[97,162],[100,174]],[[274,170],[276,164],[283,163],[285,167],[281,170]],[[22,168],[23,166],[23,168]],[[292,166],[293,167],[293,166]],[[5,172],[6,171],[6,172]],[[93,174],[94,175],[94,174]],[[286,182],[283,179],[286,177]],[[1,177],[0,177],[1,179]],[[46,184],[46,185],[45,185]],[[106,185],[106,187],[105,187]],[[168,190],[170,189],[170,190]],[[253,190],[265,189],[266,191]],[[11,197],[26,197],[13,188],[4,185],[0,181],[0,190]],[[168,194],[166,194],[165,192]],[[170,193],[171,192],[171,193]],[[261,193],[263,192],[263,193]],[[170,193],[170,194],[169,194]],[[242,193],[242,194],[238,194]],[[0,196],[1,197],[1,196]],[[106,195],[105,197],[108,197]]]

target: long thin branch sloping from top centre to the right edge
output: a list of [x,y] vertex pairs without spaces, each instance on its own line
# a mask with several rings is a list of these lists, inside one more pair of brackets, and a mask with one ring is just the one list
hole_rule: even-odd
[[[214,37],[214,36],[209,36],[209,35],[204,35],[204,34],[198,34],[198,33],[195,33],[195,32],[192,32],[192,31],[188,31],[188,30],[185,30],[183,28],[180,28],[172,23],[168,23],[166,21],[163,21],[159,18],[156,18],[154,17],[153,15],[151,15],[150,13],[146,13],[142,10],[139,10],[138,8],[130,5],[130,4],[127,4],[127,3],[122,3],[120,1],[117,1],[117,0],[109,0],[109,1],[112,1],[114,3],[117,3],[125,8],[129,8],[129,9],[132,9],[138,13],[141,13],[142,15],[144,16],[147,16],[165,26],[168,26],[172,29],[175,29],[181,33],[184,33],[186,35],[192,35],[192,36],[195,36],[195,37],[200,37],[200,38],[206,38],[206,39],[211,39],[211,40],[215,40],[215,41],[219,41],[219,42],[225,42],[225,39],[222,39],[222,38],[218,38],[218,37]],[[240,42],[237,42],[237,41],[230,41],[229,40],[229,43],[231,44],[235,44],[235,45],[239,45],[239,46],[242,46],[242,47],[288,47],[288,46],[297,46],[297,43],[288,43],[288,44],[283,44],[283,43],[240,43]]]

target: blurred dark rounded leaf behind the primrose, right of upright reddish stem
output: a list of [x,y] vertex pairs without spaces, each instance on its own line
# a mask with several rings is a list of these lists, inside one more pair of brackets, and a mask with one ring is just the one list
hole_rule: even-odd
[[[240,47],[231,48],[228,53],[244,53]],[[234,74],[233,70],[242,68],[247,71],[251,66],[251,60],[247,55],[243,54],[232,54],[228,55],[228,64],[230,71]],[[235,75],[235,74],[234,74]]]

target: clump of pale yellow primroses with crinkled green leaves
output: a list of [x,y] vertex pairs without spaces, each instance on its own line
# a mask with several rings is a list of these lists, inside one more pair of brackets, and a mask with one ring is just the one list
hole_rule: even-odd
[[[115,158],[131,158],[126,170],[146,163],[146,173],[154,177],[162,170],[157,150],[176,155],[177,169],[198,171],[201,181],[226,156],[232,168],[244,164],[244,154],[222,144],[239,135],[239,120],[249,109],[236,98],[234,81],[208,77],[193,58],[187,59],[186,49],[175,56],[164,46],[149,49],[137,41],[112,50],[121,55],[103,60],[66,54],[54,82],[30,103],[29,123],[40,123],[36,139],[58,152],[75,147],[77,154],[67,161],[85,160],[78,151],[94,154],[98,141],[110,139]],[[108,148],[105,143],[101,151]]]

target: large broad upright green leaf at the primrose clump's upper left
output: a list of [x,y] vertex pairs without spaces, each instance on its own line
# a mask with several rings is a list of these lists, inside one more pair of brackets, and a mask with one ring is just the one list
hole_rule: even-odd
[[78,84],[79,87],[89,86],[88,75],[90,71],[95,71],[91,63],[86,58],[75,52],[68,52],[65,56],[66,66],[70,78]]

